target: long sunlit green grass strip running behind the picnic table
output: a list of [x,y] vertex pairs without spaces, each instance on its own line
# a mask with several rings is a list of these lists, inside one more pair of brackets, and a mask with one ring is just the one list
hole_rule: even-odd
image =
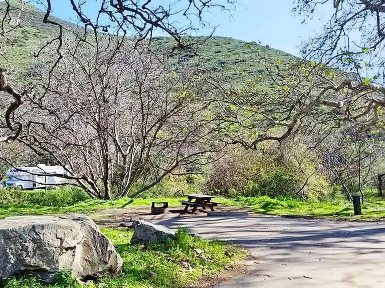
[[[74,188],[59,188],[50,191],[2,190],[0,193],[0,218],[17,215],[63,214],[70,212],[90,213],[98,209],[150,207],[153,201],[167,201],[170,207],[180,206],[186,197],[122,198],[118,200],[90,199],[84,192]],[[353,205],[342,196],[324,201],[298,200],[293,198],[271,198],[268,196],[216,198],[225,206],[248,207],[267,215],[293,215],[313,217],[336,217],[351,219],[373,219],[385,217],[385,198],[376,191],[367,189],[362,204],[363,215],[353,215]]]

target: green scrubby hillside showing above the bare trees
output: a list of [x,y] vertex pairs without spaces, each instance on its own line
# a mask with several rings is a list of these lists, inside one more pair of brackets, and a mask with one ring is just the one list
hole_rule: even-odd
[[[4,15],[6,4],[0,2],[0,14]],[[33,54],[39,48],[53,38],[58,27],[43,23],[44,12],[30,4],[26,4],[22,13],[22,27],[12,32],[10,40],[7,41],[7,58],[11,66],[23,70],[31,64]],[[51,17],[50,19],[62,24],[65,29],[76,29],[73,23]],[[265,61],[267,64],[275,64],[279,59],[287,63],[295,57],[283,51],[259,45],[257,42],[245,42],[228,37],[214,36],[210,39],[196,37],[194,40],[203,42],[192,51],[177,53],[177,60],[193,60],[196,63],[204,64],[206,69],[213,71],[224,71],[230,75],[237,75],[241,72],[249,75],[263,75],[265,73]],[[170,51],[174,41],[171,38],[156,37],[153,45],[163,51]]]

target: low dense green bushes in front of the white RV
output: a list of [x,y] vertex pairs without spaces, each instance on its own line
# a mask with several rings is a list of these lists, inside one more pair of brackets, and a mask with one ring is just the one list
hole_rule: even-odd
[[0,205],[70,206],[89,199],[76,187],[57,187],[50,190],[2,189]]

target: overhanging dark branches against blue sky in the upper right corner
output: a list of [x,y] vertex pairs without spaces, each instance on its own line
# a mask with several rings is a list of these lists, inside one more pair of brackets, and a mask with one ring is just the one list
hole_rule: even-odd
[[385,80],[382,0],[297,0],[294,11],[308,21],[325,6],[326,24],[303,46],[306,59],[352,71],[378,84]]

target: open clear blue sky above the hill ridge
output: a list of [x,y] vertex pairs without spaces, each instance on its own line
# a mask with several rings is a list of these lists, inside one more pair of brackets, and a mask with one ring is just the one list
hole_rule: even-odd
[[[169,0],[160,0],[167,3]],[[187,0],[185,0],[187,1]],[[90,0],[87,12],[96,14],[97,7]],[[232,14],[220,11],[206,13],[214,25],[219,25],[215,34],[233,37],[245,41],[261,41],[262,44],[298,55],[301,40],[314,36],[322,28],[327,10],[324,14],[316,14],[315,18],[306,24],[301,24],[302,17],[294,16],[292,0],[239,0],[239,5]],[[76,16],[69,1],[52,0],[53,15],[62,19],[76,22]],[[329,6],[329,5],[327,5]],[[331,10],[330,6],[330,10]],[[320,20],[319,20],[320,19]],[[207,34],[208,29],[202,29],[198,34]]]

